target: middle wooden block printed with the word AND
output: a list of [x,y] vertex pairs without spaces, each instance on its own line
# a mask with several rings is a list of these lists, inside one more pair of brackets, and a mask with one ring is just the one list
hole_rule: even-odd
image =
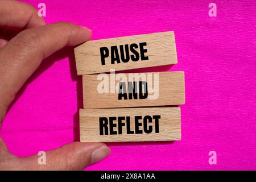
[[[185,104],[181,71],[84,75],[82,83],[84,109]],[[133,94],[135,85],[137,93]]]

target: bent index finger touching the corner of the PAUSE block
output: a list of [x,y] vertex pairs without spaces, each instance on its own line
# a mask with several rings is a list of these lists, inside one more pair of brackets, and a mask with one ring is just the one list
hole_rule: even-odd
[[0,50],[0,109],[1,105],[7,109],[42,59],[64,46],[83,43],[91,35],[88,28],[59,22],[24,30],[11,39]]

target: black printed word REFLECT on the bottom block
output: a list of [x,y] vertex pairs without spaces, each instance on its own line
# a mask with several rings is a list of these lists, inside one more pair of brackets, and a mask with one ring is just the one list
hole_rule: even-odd
[[[153,133],[153,122],[155,123],[154,132],[159,133],[160,118],[160,115],[152,115],[152,117],[145,115],[143,118],[141,115],[136,115],[133,119],[133,129],[131,129],[131,118],[129,116],[100,117],[100,135],[122,135],[123,127],[126,127],[126,134],[143,134],[143,132],[150,134]],[[143,129],[140,127],[143,127]]]

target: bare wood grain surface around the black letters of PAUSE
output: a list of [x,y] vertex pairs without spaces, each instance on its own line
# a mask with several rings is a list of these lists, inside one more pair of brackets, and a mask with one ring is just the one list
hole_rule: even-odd
[[[127,63],[121,61],[119,64],[110,64],[111,52],[109,50],[109,57],[105,59],[105,65],[102,65],[101,47],[108,47],[110,49],[112,46],[119,47],[125,44],[139,45],[142,42],[147,44],[144,48],[147,49],[145,56],[148,56],[148,60],[141,60],[140,56],[138,61],[130,60]],[[139,51],[139,48],[137,50]],[[131,54],[133,53],[130,52]],[[88,41],[75,48],[75,57],[77,75],[110,72],[110,69],[122,71],[177,63],[173,31]]]

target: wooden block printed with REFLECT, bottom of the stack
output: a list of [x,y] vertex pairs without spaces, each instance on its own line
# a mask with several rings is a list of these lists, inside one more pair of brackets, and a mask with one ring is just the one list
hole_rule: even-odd
[[81,142],[180,139],[179,107],[80,109]]

